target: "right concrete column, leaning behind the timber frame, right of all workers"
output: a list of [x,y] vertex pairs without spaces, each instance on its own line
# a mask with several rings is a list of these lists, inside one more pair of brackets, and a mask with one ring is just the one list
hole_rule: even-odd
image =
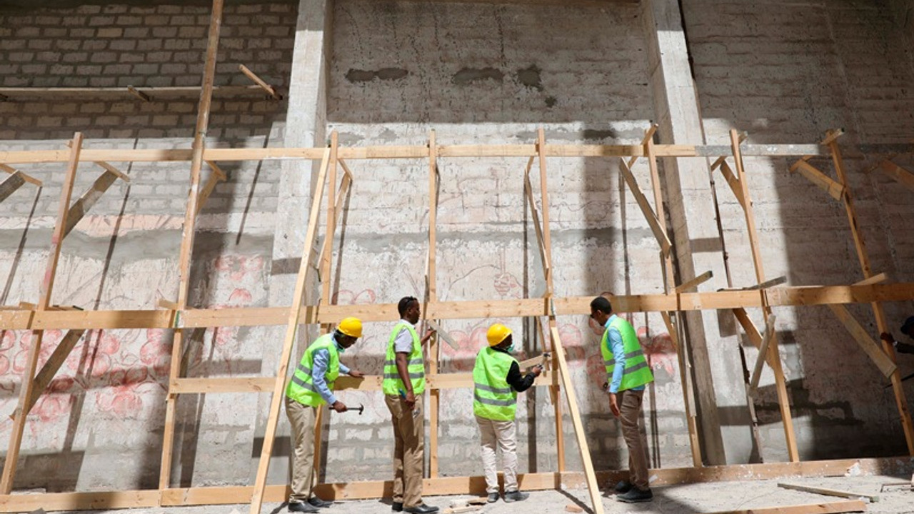
[[[697,95],[685,46],[682,17],[676,0],[643,0],[648,73],[654,91],[654,112],[663,144],[701,145],[704,135]],[[699,159],[665,159],[664,198],[673,223],[676,262],[684,280],[712,270],[726,276],[717,249],[698,250],[695,241],[718,241],[714,203],[707,165]],[[714,245],[702,245],[714,246]],[[705,285],[704,289],[712,286]],[[717,341],[719,328],[714,311],[685,316],[690,345],[702,450],[706,464],[726,464],[726,452],[717,411],[708,341]],[[734,349],[735,351],[735,349]],[[738,384],[729,384],[736,386]]]

